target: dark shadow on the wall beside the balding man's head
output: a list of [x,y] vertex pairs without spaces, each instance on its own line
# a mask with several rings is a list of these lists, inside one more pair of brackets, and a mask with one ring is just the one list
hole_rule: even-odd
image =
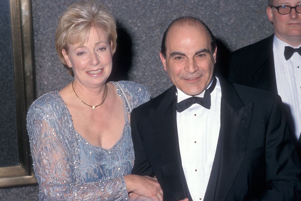
[[229,72],[229,57],[230,50],[226,45],[220,40],[216,40],[217,52],[216,52],[216,64],[214,66],[214,73],[217,76],[222,76],[224,78],[228,77],[227,72]]

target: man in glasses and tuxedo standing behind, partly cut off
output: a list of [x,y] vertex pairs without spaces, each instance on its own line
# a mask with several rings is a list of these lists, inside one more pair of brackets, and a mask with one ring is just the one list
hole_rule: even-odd
[[301,1],[269,0],[266,12],[275,34],[231,53],[228,79],[279,94],[290,132],[300,146]]

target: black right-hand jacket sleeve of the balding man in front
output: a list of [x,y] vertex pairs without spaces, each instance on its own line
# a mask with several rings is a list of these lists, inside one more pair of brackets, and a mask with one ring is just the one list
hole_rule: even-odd
[[281,98],[277,97],[267,125],[265,139],[267,190],[261,200],[301,200],[300,161],[286,125]]

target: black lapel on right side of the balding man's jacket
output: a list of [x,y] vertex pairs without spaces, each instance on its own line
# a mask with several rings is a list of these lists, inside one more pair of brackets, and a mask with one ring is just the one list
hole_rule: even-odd
[[250,124],[253,103],[244,105],[234,85],[220,79],[222,89],[220,152],[214,200],[225,200],[241,165]]

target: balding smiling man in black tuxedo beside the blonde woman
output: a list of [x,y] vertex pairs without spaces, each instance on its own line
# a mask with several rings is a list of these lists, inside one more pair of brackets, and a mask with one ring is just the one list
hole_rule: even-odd
[[281,98],[213,76],[215,39],[194,17],[172,21],[160,58],[174,85],[132,110],[132,174],[156,176],[163,200],[299,200]]

